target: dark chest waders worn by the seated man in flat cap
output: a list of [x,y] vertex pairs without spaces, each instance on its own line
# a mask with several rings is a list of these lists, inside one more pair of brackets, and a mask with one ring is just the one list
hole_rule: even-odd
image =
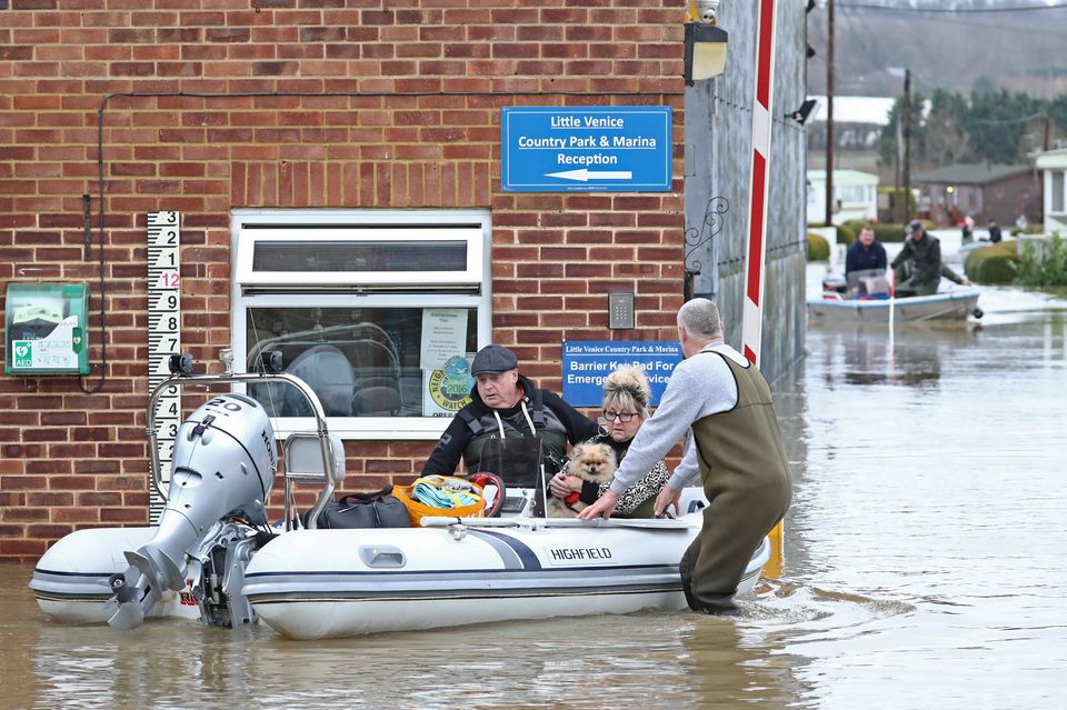
[[[567,432],[564,424],[552,412],[545,409],[540,390],[534,390],[530,396],[530,409],[518,411],[508,417],[496,417],[493,412],[486,412],[476,417],[467,410],[459,411],[459,418],[470,428],[471,439],[463,448],[463,463],[467,471],[478,471],[481,462],[481,450],[490,439],[510,439],[518,437],[536,437],[541,440],[541,451],[545,457],[546,473],[556,474],[556,461],[566,460]],[[548,416],[546,416],[548,414]],[[529,419],[527,419],[527,416]],[[532,424],[534,431],[530,431]]]

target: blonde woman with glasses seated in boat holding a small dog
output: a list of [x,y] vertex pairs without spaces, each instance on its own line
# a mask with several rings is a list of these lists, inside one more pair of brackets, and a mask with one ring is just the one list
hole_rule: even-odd
[[[630,441],[637,436],[637,430],[651,413],[648,409],[650,398],[648,378],[638,367],[620,368],[609,374],[604,383],[605,433],[594,440],[611,447],[619,462],[626,456]],[[660,459],[648,473],[619,497],[615,514],[622,518],[651,518],[656,496],[669,478],[667,463]],[[582,481],[577,476],[567,476],[561,471],[552,478],[549,488],[557,498],[567,498],[577,492],[578,500],[594,503],[607,490],[608,483]]]

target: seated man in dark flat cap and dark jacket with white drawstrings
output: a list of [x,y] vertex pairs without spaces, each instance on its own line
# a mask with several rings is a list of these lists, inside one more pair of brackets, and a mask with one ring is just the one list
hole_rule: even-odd
[[[536,437],[546,462],[564,461],[567,443],[595,437],[600,427],[558,394],[537,388],[519,374],[515,353],[503,346],[486,346],[470,367],[475,388],[471,402],[456,412],[441,440],[422,467],[421,476],[450,476],[463,459],[468,472],[478,471],[481,450],[490,439]],[[555,470],[549,473],[555,473]]]

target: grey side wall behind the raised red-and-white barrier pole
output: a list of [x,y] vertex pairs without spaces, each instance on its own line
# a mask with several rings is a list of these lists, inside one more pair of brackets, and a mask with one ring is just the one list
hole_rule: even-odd
[[[802,127],[785,118],[805,99],[805,13],[801,3],[775,6],[777,47],[760,358],[769,380],[780,377],[804,353],[806,261],[805,133]],[[729,32],[726,71],[686,91],[686,249],[687,266],[700,262],[695,293],[718,303],[727,326],[727,342],[739,347],[757,4],[724,3],[720,10],[719,24]],[[714,236],[701,240],[701,233]]]

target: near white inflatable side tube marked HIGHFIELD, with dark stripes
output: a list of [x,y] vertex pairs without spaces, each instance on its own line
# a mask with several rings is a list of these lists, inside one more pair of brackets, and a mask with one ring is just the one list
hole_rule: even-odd
[[[293,639],[686,607],[678,561],[701,513],[597,527],[526,520],[536,522],[293,531],[256,553],[243,593]],[[751,592],[769,554],[765,540],[738,593]]]

